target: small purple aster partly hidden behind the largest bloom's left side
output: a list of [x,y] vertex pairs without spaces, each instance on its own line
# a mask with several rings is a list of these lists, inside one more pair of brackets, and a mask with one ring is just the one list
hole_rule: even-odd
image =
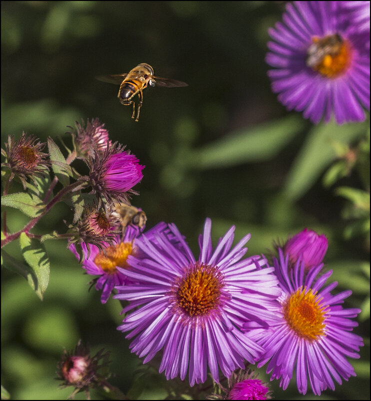
[[[166,230],[167,226],[164,223],[159,223],[146,232],[148,238],[151,238],[152,233],[159,230]],[[139,256],[140,251],[136,247],[136,238],[139,231],[134,227],[127,227],[125,234],[121,240],[120,236],[116,236],[112,245],[105,243],[105,249],[94,244],[82,243],[80,246],[84,255],[82,267],[87,274],[98,276],[96,279],[95,288],[102,290],[100,301],[107,302],[113,288],[117,285],[122,286],[131,283],[132,280],[127,277],[126,271],[129,269],[127,257],[129,255]],[[77,259],[80,258],[75,244],[69,246]],[[118,269],[119,267],[119,269]]]

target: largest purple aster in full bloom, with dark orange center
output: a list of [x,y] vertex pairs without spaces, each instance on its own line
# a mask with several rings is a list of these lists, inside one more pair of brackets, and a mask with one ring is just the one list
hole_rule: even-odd
[[128,259],[126,274],[136,284],[117,287],[114,298],[130,302],[123,309],[130,313],[118,329],[129,331],[131,351],[145,356],[143,363],[162,349],[159,371],[167,379],[179,375],[183,380],[188,371],[191,386],[204,382],[208,365],[218,381],[219,367],[228,377],[235,368],[244,368],[245,359],[254,363],[263,351],[241,326],[269,325],[280,294],[276,277],[272,268],[261,268],[266,264],[261,256],[240,260],[250,234],[232,247],[234,226],[213,248],[207,218],[198,260],[176,226],[168,228],[175,245],[163,232],[135,242],[146,256]]

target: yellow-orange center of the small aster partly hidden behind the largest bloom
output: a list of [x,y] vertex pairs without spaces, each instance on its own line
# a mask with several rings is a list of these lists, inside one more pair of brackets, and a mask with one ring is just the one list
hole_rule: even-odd
[[121,242],[100,251],[94,258],[94,263],[106,273],[115,273],[116,267],[126,268],[126,259],[132,252],[131,242]]

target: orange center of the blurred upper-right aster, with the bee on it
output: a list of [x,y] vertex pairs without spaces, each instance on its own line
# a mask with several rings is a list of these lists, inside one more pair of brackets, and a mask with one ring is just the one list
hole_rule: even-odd
[[350,60],[350,44],[338,34],[334,34],[322,39],[312,38],[306,64],[323,77],[336,78],[347,70]]

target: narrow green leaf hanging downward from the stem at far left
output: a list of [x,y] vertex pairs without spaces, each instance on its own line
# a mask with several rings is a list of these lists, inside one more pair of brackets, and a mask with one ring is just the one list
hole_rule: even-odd
[[21,233],[19,237],[20,248],[23,253],[24,260],[31,267],[37,278],[36,292],[42,294],[49,283],[50,262],[44,246],[40,241],[28,238],[25,233]]

